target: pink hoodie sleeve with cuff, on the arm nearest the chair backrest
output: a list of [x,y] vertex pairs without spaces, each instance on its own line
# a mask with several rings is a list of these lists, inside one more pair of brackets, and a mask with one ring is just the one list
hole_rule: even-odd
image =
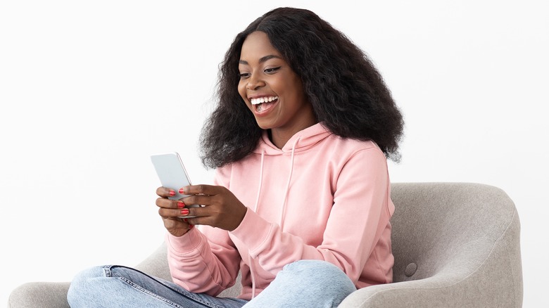
[[[232,235],[273,275],[291,262],[320,259],[335,264],[357,283],[381,236],[390,237],[384,233],[394,210],[389,189],[385,156],[379,148],[363,149],[352,155],[336,176],[334,204],[317,247],[281,231],[250,209]],[[390,255],[390,244],[385,249]],[[389,262],[392,266],[392,258]]]

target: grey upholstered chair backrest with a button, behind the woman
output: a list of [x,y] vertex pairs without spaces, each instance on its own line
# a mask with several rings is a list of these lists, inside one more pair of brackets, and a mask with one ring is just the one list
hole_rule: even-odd
[[391,189],[394,282],[438,275],[495,295],[512,293],[510,300],[522,302],[520,224],[505,192],[465,183],[400,183]]

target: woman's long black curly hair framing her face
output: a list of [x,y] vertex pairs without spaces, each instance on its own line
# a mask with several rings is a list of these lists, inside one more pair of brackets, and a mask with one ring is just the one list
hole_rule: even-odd
[[248,34],[265,32],[301,77],[316,119],[343,138],[371,140],[395,161],[403,116],[370,59],[345,34],[315,13],[275,8],[236,35],[220,65],[218,104],[201,133],[206,167],[221,167],[251,153],[262,129],[239,95],[239,59]]

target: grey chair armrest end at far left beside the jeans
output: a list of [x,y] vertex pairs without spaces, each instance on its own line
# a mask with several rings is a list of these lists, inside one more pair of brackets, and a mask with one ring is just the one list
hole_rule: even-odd
[[18,286],[10,294],[8,308],[70,308],[69,282],[34,282]]

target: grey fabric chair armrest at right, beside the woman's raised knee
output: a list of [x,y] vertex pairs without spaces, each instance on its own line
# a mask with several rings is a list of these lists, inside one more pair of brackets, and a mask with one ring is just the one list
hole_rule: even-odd
[[[362,288],[348,295],[339,307],[522,307],[519,229],[515,211],[481,262],[466,257],[450,259],[434,276]],[[472,255],[476,248],[472,245],[469,249],[462,253]]]

